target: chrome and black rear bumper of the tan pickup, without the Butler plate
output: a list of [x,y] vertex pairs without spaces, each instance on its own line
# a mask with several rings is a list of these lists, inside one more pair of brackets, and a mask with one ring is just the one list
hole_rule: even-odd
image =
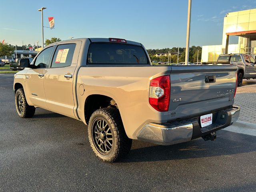
[[139,140],[152,142],[160,145],[172,145],[187,142],[207,135],[211,132],[226,128],[238,120],[239,106],[231,106],[212,113],[212,124],[201,127],[200,116],[181,119],[164,124],[150,123],[144,126],[137,135]]

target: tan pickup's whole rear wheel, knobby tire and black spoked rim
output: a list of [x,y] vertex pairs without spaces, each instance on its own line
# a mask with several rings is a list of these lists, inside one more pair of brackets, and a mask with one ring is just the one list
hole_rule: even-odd
[[90,117],[88,137],[94,154],[104,162],[124,158],[132,146],[125,133],[118,109],[102,108]]

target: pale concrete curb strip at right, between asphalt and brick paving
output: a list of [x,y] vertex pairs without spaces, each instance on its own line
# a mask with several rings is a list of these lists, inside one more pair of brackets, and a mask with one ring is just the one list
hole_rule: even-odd
[[244,121],[236,121],[231,126],[224,128],[226,131],[256,136],[256,124]]

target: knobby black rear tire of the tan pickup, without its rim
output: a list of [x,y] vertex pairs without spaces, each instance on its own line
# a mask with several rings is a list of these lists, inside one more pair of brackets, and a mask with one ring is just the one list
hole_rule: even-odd
[[[94,143],[92,131],[94,130],[93,125],[98,119],[105,120],[112,132],[112,147],[108,154],[99,152]],[[114,107],[102,108],[93,112],[88,124],[88,138],[94,154],[104,162],[114,162],[125,158],[132,146],[132,139],[128,138],[125,133],[119,110]]]

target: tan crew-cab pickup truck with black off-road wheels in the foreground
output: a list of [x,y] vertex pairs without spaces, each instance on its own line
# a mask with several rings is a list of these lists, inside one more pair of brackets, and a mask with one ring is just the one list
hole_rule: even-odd
[[118,38],[50,44],[14,76],[21,118],[37,107],[88,124],[98,158],[128,154],[132,139],[162,145],[202,137],[238,119],[235,66],[152,66],[144,46]]

